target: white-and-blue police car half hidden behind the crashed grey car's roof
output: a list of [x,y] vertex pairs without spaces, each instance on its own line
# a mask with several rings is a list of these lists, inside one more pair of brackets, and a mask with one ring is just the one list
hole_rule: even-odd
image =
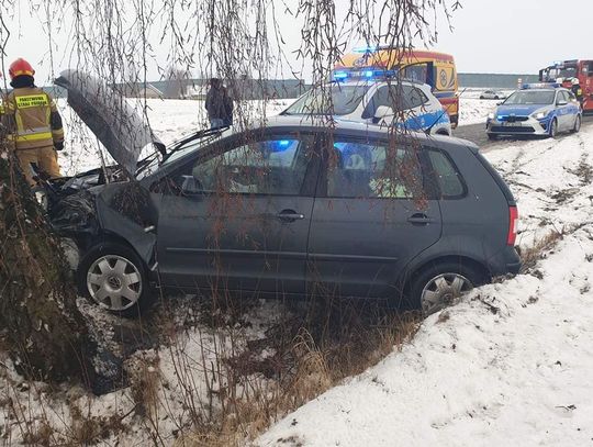
[[[390,79],[389,70],[344,70],[335,71],[333,77],[333,82],[307,91],[281,114],[331,113],[342,120],[451,134],[449,116],[426,83]],[[332,111],[327,101],[329,94]]]

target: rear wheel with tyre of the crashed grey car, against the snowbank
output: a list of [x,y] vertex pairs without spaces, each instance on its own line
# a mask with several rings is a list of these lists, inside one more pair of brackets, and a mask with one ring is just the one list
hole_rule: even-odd
[[461,261],[433,264],[416,273],[407,288],[409,303],[430,315],[455,302],[462,293],[486,282],[475,268]]

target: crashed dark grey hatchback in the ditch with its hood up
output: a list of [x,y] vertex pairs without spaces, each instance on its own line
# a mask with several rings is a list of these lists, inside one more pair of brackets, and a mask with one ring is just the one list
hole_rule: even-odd
[[[382,299],[429,313],[518,271],[513,195],[469,142],[394,143],[380,126],[279,116],[164,149],[142,120],[103,116],[99,90],[76,76],[58,83],[121,167],[111,181],[54,185],[49,215],[77,248],[80,291],[110,311],[133,314],[160,287]],[[146,144],[155,155],[137,161]]]

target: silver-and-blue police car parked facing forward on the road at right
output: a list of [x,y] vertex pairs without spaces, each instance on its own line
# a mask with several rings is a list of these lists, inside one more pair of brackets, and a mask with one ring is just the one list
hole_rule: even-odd
[[489,114],[490,139],[499,135],[544,135],[579,132],[581,108],[574,94],[558,83],[524,85]]

